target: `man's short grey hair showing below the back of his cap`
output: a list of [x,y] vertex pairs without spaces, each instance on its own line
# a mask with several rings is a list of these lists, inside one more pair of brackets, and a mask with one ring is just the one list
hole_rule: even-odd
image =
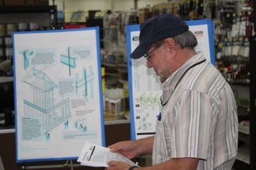
[[174,41],[181,46],[181,48],[194,48],[197,46],[197,39],[195,35],[190,31],[187,30],[182,34],[178,34],[177,36],[172,37]]

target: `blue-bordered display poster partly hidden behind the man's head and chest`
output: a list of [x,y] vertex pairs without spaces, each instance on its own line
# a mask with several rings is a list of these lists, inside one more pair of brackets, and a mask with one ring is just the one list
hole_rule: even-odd
[[[205,58],[215,64],[213,22],[209,19],[188,21],[190,31],[197,38],[195,51],[202,51]],[[156,132],[156,118],[161,112],[162,84],[154,69],[146,67],[146,59],[132,60],[131,52],[139,44],[139,25],[126,26],[128,53],[128,82],[130,97],[131,138],[138,140]]]

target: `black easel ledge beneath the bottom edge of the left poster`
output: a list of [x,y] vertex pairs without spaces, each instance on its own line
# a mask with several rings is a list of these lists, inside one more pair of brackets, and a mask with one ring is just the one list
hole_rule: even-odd
[[48,169],[48,168],[61,168],[61,167],[70,167],[70,170],[73,170],[74,167],[81,167],[82,165],[78,163],[73,163],[70,159],[66,160],[66,163],[59,165],[23,165],[21,169]]

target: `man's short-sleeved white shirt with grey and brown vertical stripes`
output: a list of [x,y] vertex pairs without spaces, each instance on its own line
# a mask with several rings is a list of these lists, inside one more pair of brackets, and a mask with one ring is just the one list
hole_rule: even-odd
[[204,59],[196,54],[164,82],[162,100],[166,105],[162,120],[157,120],[154,165],[193,157],[199,158],[197,170],[228,170],[235,161],[238,122],[233,92],[221,73],[210,62],[202,62]]

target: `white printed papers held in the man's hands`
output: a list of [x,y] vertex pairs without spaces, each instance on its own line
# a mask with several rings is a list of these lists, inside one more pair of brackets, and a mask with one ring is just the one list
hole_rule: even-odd
[[109,148],[90,144],[86,142],[84,148],[77,159],[81,165],[90,167],[108,167],[108,161],[124,161],[130,165],[136,165],[127,157],[120,155],[119,153],[111,152]]

